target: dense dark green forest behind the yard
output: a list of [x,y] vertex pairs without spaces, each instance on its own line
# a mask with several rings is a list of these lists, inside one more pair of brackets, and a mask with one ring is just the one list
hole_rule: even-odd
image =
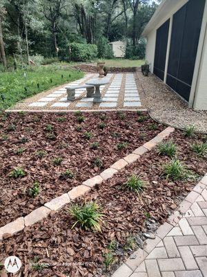
[[111,58],[108,42],[117,40],[126,41],[127,58],[142,59],[141,33],[156,8],[150,0],[1,0],[0,62],[69,61],[71,48],[75,60]]

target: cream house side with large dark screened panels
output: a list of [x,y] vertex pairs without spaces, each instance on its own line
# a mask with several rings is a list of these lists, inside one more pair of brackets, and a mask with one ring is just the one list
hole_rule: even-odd
[[207,1],[164,0],[142,35],[150,71],[188,102],[207,110]]

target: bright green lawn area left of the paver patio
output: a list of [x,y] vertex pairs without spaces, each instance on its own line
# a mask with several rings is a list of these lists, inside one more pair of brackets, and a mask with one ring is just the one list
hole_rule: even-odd
[[59,66],[35,66],[0,73],[0,110],[41,91],[83,77],[83,73]]

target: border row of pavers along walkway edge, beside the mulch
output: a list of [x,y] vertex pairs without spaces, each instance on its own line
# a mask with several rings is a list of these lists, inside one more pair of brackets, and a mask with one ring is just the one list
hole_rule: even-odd
[[[184,215],[190,209],[190,206],[195,203],[198,197],[201,197],[201,193],[204,192],[207,188],[207,173],[204,177],[199,181],[198,184],[195,185],[193,190],[188,193],[185,199],[179,205],[179,209],[172,213],[168,220],[164,222],[157,231],[155,232],[155,239],[152,240],[148,238],[145,242],[146,245],[144,249],[138,249],[134,253],[131,254],[130,258],[126,260],[115,272],[112,274],[112,277],[129,277],[132,276],[133,272],[144,262],[145,258],[157,247],[157,244],[163,240],[166,235],[177,225],[181,218],[184,218]],[[146,275],[144,275],[146,276]]]

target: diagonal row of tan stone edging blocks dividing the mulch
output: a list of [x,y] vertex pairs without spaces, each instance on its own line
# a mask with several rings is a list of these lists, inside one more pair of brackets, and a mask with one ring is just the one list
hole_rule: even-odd
[[8,233],[13,235],[14,233],[22,231],[26,226],[31,226],[32,224],[41,221],[43,218],[48,217],[52,211],[59,211],[66,204],[77,199],[78,197],[85,195],[91,190],[92,187],[96,186],[97,184],[101,184],[103,180],[111,178],[125,166],[128,166],[131,163],[137,161],[141,155],[152,150],[152,148],[155,148],[157,143],[168,138],[168,136],[170,136],[170,134],[174,131],[175,128],[167,127],[162,132],[157,134],[157,136],[155,136],[153,139],[147,143],[144,143],[144,145],[141,145],[126,157],[113,163],[110,168],[107,168],[101,172],[100,175],[83,181],[81,185],[72,188],[68,193],[63,193],[63,195],[55,197],[54,199],[50,200],[50,202],[47,202],[43,206],[36,208],[25,217],[19,217],[17,220],[2,226],[0,228],[0,240],[3,240],[3,235]]

